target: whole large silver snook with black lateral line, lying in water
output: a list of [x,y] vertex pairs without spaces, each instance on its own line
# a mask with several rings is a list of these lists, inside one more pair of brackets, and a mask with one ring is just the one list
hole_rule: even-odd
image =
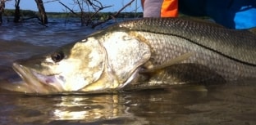
[[28,93],[102,92],[131,85],[256,78],[256,35],[182,18],[129,20],[44,56],[17,60]]

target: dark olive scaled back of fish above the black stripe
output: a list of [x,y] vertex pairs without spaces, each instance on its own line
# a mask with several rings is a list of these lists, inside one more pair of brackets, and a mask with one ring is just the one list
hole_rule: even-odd
[[127,21],[116,27],[177,36],[232,60],[256,66],[256,35],[249,31],[225,29],[203,21],[181,18],[145,18]]

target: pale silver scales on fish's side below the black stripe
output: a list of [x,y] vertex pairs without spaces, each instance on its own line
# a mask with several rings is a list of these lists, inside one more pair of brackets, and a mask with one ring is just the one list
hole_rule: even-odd
[[[150,61],[153,63],[153,65],[161,65],[165,61],[176,56],[181,56],[184,53],[192,52],[194,55],[188,60],[184,60],[182,63],[207,65],[209,69],[217,71],[217,73],[222,75],[222,77],[226,80],[255,77],[255,66],[246,65],[244,63],[232,60],[226,56],[222,56],[222,54],[219,54],[216,51],[212,51],[208,48],[201,47],[194,42],[190,42],[185,38],[140,31],[137,33],[144,36],[145,39],[147,39],[150,43],[153,49]],[[199,69],[192,71],[193,72],[190,72],[190,74],[194,74],[194,77],[202,72],[202,70]]]

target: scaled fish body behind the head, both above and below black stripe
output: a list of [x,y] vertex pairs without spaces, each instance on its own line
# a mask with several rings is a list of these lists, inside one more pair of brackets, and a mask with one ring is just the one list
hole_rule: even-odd
[[134,20],[116,27],[148,42],[153,65],[193,52],[195,55],[183,63],[207,66],[230,80],[256,78],[256,35],[247,30],[182,18]]

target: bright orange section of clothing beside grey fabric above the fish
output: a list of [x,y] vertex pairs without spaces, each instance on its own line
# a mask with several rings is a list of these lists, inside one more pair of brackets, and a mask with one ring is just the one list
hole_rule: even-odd
[[178,16],[178,0],[163,0],[161,8],[161,17]]

